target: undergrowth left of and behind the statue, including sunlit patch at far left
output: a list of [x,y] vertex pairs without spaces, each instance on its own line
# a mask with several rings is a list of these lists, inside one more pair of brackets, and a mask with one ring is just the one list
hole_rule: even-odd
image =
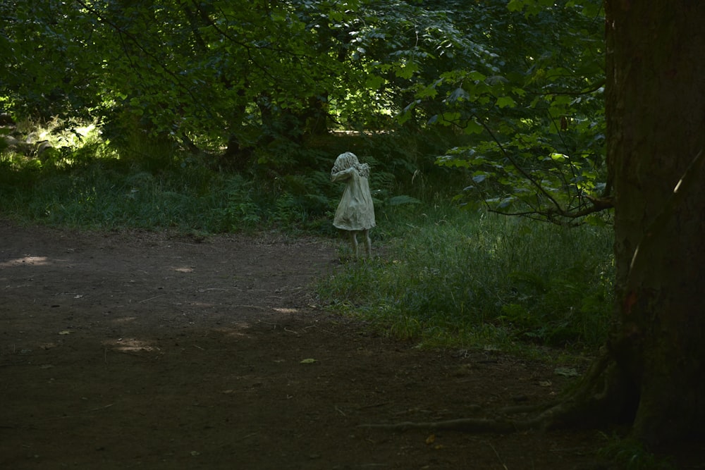
[[[23,145],[12,148],[3,137],[8,129],[0,128],[4,216],[104,230],[335,233],[331,219],[343,187],[330,180],[333,151],[309,151],[307,165],[298,167],[289,159],[259,156],[252,168],[234,173],[216,168],[212,155],[177,151],[138,133],[111,144],[93,126],[84,135],[66,128],[59,122],[31,132],[18,126],[12,132]],[[294,146],[281,151],[294,149],[302,152]],[[381,212],[419,202],[400,193],[399,179],[385,169],[388,162],[364,158],[376,165],[371,185]]]

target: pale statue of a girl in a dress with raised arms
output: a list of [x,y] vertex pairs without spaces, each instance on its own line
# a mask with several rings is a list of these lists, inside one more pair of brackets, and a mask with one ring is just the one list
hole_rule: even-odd
[[367,256],[372,256],[372,240],[369,239],[369,229],[374,227],[374,205],[372,194],[369,193],[369,165],[357,161],[355,154],[346,151],[338,155],[331,170],[332,181],[345,181],[345,192],[338,204],[333,225],[350,232],[355,256],[359,255],[357,248],[357,233],[364,236]]

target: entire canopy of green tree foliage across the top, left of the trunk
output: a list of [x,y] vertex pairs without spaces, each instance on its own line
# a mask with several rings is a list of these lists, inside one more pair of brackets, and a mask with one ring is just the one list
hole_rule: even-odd
[[[609,193],[596,0],[1,8],[6,110],[98,120],[123,154],[157,139],[235,169],[317,166],[295,150],[307,137],[384,130],[442,136],[449,151],[422,153],[462,172],[458,199],[471,206],[554,220],[587,214]],[[419,162],[406,153],[414,173]]]

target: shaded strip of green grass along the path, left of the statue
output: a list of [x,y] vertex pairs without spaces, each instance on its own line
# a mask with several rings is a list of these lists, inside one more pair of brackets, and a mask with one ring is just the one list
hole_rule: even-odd
[[206,166],[152,172],[116,159],[49,166],[0,159],[0,211],[19,221],[104,229],[199,230],[207,233],[324,225],[327,201],[302,204],[269,182]]

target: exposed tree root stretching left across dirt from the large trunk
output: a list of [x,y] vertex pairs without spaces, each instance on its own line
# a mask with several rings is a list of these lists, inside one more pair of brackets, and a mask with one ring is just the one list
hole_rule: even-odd
[[[533,406],[507,407],[498,410],[495,418],[461,418],[445,421],[362,424],[360,427],[387,431],[427,429],[431,431],[461,431],[467,433],[515,433],[528,430],[548,430],[566,426],[585,427],[613,421],[615,409],[623,412],[624,388],[617,385],[616,364],[607,352],[596,359],[580,386],[563,400]],[[616,382],[615,382],[616,381]],[[615,386],[616,385],[616,386]],[[508,415],[533,414],[522,419]]]

